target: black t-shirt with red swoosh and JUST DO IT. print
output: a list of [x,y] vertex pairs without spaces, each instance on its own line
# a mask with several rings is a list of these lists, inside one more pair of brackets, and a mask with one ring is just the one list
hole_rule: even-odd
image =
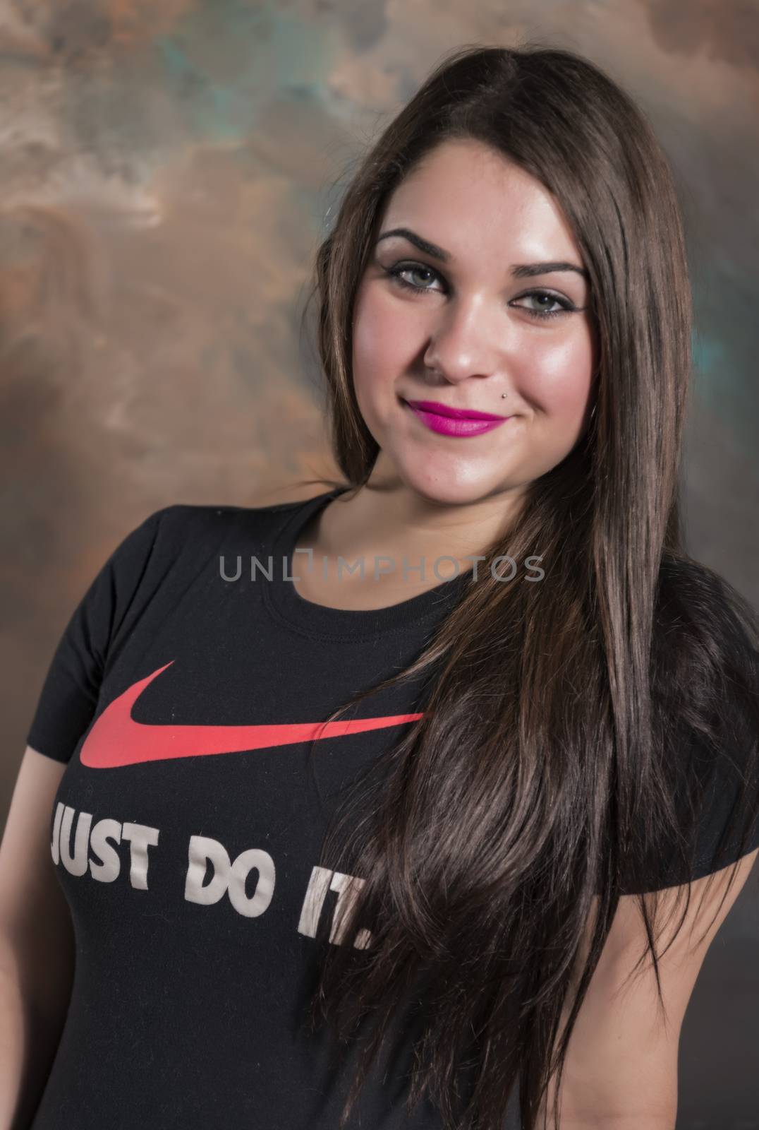
[[[300,1026],[335,944],[341,876],[329,881],[320,849],[330,797],[419,716],[421,684],[317,727],[408,666],[466,581],[372,611],[304,600],[293,548],[338,493],[151,514],[63,633],[27,741],[68,763],[51,852],[76,973],[33,1130],[338,1124],[350,1072]],[[251,580],[254,559],[271,580],[259,564]],[[351,1128],[400,1128],[403,1097],[381,1060]],[[440,1124],[424,1103],[408,1130]]]

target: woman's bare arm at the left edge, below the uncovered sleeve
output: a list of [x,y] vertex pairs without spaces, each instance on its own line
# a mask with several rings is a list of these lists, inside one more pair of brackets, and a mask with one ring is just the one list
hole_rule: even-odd
[[28,1127],[71,994],[73,928],[50,853],[64,770],[26,747],[0,843],[0,1130]]

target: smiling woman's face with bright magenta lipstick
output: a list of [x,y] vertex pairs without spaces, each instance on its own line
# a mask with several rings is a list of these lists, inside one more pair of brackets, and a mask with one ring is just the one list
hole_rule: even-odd
[[[437,502],[518,495],[569,453],[591,407],[590,284],[558,205],[500,154],[448,141],[399,185],[378,232],[352,353],[375,471]],[[508,419],[447,433],[410,401]]]

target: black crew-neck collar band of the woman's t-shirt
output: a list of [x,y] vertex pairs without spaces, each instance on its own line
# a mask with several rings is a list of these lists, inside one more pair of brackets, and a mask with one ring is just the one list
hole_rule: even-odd
[[[417,621],[434,620],[453,608],[463,596],[472,571],[461,572],[457,576],[440,582],[434,589],[410,597],[398,605],[386,608],[344,609],[329,608],[315,605],[302,597],[291,580],[294,575],[303,575],[308,558],[298,554],[293,562],[293,551],[300,531],[306,522],[323,510],[328,503],[349,487],[335,487],[324,494],[316,495],[304,503],[288,507],[283,521],[277,528],[271,545],[272,579],[262,579],[264,603],[269,611],[290,627],[319,637],[334,640],[357,640],[376,636],[386,632],[396,632]],[[283,560],[285,558],[285,560]],[[262,560],[262,565],[268,562]],[[314,560],[314,568],[320,568],[321,560]],[[429,564],[426,566],[429,568]]]

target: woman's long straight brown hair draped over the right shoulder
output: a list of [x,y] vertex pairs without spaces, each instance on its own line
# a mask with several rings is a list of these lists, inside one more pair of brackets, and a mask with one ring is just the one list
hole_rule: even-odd
[[[463,46],[360,162],[312,292],[337,466],[358,489],[378,451],[354,391],[351,328],[384,207],[425,155],[464,138],[517,163],[564,209],[591,276],[596,411],[530,485],[508,544],[482,548],[478,580],[418,661],[380,684],[434,672],[382,788],[357,791],[324,842],[323,866],[360,881],[342,904],[342,945],[326,953],[312,1023],[321,1012],[343,1042],[369,1028],[340,1128],[412,994],[421,1028],[407,1110],[427,1094],[447,1130],[497,1130],[518,1080],[533,1130],[551,1076],[560,1087],[623,893],[638,896],[640,962],[651,953],[658,985],[651,869],[658,876],[666,860],[660,887],[684,884],[682,923],[704,863],[707,791],[703,774],[679,779],[686,754],[714,767],[741,750],[748,808],[736,806],[717,845],[731,860],[757,815],[759,625],[686,553],[680,523],[691,298],[677,186],[645,115],[599,67],[534,44]],[[507,554],[541,555],[543,582],[494,576]],[[661,986],[658,997],[663,1006]],[[473,1075],[462,1096],[464,1061]]]

